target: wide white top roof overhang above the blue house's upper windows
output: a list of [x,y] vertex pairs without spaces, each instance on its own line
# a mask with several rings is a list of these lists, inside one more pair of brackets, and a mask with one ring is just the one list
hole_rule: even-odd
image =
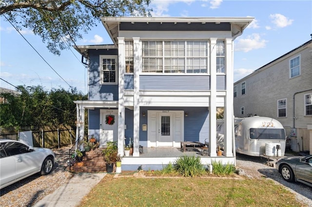
[[230,23],[233,38],[241,35],[243,30],[254,20],[254,17],[101,17],[101,21],[117,46],[117,37],[119,33],[119,25],[121,22],[171,22],[176,24],[178,22],[192,24],[200,22],[202,24],[213,22],[215,24]]

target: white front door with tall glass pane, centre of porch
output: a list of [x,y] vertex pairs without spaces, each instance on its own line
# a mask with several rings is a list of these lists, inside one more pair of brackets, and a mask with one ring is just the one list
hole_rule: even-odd
[[156,146],[173,146],[173,113],[158,113]]

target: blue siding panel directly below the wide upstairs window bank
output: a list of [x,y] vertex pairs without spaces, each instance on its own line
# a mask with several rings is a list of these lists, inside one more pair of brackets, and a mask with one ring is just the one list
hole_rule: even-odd
[[140,75],[141,90],[210,90],[209,75]]

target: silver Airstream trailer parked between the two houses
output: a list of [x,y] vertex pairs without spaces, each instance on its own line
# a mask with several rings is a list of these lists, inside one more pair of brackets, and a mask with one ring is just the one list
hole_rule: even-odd
[[247,117],[234,126],[237,153],[251,156],[284,156],[286,136],[283,125],[268,117]]

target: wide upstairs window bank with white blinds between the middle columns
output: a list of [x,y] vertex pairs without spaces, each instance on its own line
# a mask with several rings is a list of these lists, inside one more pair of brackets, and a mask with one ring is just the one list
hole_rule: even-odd
[[142,72],[207,73],[208,41],[143,41]]

